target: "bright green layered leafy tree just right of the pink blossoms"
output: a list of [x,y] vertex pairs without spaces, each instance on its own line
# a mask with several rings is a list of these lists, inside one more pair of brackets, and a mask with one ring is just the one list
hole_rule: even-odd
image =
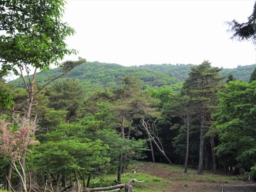
[[33,158],[39,169],[50,173],[90,173],[99,164],[109,162],[109,147],[101,140],[86,138],[81,124],[60,123],[52,129],[45,135],[46,142],[35,147]]

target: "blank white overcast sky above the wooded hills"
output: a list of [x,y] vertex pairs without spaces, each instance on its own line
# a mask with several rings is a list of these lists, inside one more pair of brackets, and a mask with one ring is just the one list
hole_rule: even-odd
[[254,2],[67,0],[62,20],[76,30],[66,39],[69,48],[87,61],[131,66],[210,60],[236,68],[256,63],[255,45],[230,40],[223,22],[246,22]]

